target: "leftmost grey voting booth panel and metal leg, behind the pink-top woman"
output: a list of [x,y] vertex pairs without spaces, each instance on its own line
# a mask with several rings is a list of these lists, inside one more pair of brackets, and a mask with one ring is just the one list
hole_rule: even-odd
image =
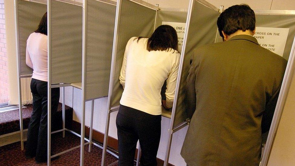
[[[45,2],[45,1],[44,1]],[[17,73],[18,73],[18,95],[19,95],[19,123],[21,150],[24,150],[24,130],[21,99],[21,78],[32,76],[33,70],[26,64],[27,39],[33,33],[47,11],[46,4],[15,0],[15,29],[16,29],[16,52],[17,52]],[[45,2],[46,3],[46,2]]]

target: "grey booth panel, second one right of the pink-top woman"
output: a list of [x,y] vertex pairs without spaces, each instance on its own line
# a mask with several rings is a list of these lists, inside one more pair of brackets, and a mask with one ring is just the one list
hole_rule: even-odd
[[87,3],[86,100],[108,95],[116,16],[115,5]]

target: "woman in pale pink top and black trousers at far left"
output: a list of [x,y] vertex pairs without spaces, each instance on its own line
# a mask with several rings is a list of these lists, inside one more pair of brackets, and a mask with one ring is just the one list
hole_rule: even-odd
[[[31,92],[33,112],[28,128],[26,158],[47,161],[47,12],[27,40],[26,63],[33,69]],[[51,111],[57,111],[60,89],[51,89]]]

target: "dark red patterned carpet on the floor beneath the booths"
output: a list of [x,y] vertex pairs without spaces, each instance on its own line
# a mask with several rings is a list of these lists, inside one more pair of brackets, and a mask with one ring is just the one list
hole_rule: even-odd
[[[51,148],[53,154],[57,154],[61,151],[73,148],[80,144],[80,138],[69,132],[66,132],[66,137],[62,138],[62,133],[52,134]],[[102,149],[92,145],[91,152],[88,152],[88,145],[85,145],[84,149],[84,165],[100,165],[102,158]],[[117,165],[118,159],[107,153],[106,165]],[[80,163],[80,148],[60,155],[60,158],[52,161],[52,165],[79,165]],[[21,151],[20,143],[14,143],[0,147],[0,165],[12,166],[12,165],[47,165],[36,164],[34,158],[26,159],[24,151]]]

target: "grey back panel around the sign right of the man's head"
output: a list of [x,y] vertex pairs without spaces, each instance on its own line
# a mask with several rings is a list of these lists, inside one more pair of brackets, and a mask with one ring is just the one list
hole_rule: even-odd
[[289,28],[283,54],[283,57],[288,60],[295,36],[295,15],[256,15],[255,17],[256,27]]

